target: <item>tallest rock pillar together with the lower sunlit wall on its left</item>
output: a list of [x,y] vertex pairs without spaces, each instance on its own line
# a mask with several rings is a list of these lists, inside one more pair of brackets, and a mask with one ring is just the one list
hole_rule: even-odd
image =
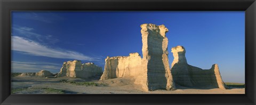
[[143,24],[141,28],[143,58],[138,53],[107,57],[100,80],[133,76],[134,83],[140,84],[143,90],[174,90],[168,60],[168,39],[165,36],[168,29],[164,25],[153,24]]

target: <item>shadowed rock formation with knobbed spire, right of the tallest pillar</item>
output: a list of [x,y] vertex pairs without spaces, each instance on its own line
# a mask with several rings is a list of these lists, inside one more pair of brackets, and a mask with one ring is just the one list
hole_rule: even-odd
[[187,63],[183,46],[172,48],[174,60],[171,72],[175,84],[187,87],[210,87],[225,89],[218,64],[213,64],[211,69],[203,70],[198,67],[190,66]]

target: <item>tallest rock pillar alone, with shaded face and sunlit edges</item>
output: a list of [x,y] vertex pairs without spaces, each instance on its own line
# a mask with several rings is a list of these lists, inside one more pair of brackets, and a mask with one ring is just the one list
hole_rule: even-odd
[[[165,88],[174,90],[168,59],[168,39],[165,34],[169,31],[164,25],[143,24],[142,34],[142,72],[139,77],[144,90]],[[138,79],[135,81],[138,83]]]

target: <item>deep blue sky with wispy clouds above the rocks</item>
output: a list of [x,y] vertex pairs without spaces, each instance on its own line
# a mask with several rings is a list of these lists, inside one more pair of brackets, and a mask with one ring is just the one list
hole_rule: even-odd
[[12,72],[59,72],[65,61],[142,55],[140,25],[165,25],[171,47],[182,45],[187,62],[202,69],[217,63],[224,82],[244,83],[244,11],[12,12]]

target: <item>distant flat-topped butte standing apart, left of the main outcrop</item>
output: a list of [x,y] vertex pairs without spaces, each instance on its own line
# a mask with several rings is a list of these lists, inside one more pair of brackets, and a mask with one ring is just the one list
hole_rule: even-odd
[[59,74],[55,77],[88,78],[101,74],[102,68],[96,66],[94,63],[82,64],[81,61],[74,60],[64,62]]

